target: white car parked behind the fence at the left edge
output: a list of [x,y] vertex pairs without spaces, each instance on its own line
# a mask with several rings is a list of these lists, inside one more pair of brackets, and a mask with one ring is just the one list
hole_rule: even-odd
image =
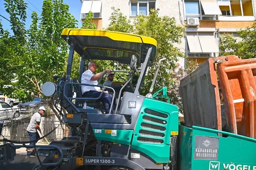
[[0,101],[0,120],[15,119],[20,117],[20,109]]

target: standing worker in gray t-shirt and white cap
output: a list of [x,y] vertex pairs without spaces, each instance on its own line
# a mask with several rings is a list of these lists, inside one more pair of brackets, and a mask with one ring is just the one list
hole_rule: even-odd
[[[46,109],[43,106],[41,106],[41,107],[39,107],[39,111],[34,113],[34,115],[31,117],[30,123],[27,127],[27,131],[28,131],[30,141],[40,138],[40,136],[37,132],[37,129],[39,130],[39,132],[41,134],[43,134],[39,125],[40,125],[40,122],[41,122],[41,117],[44,115],[45,111],[46,111]],[[35,142],[30,142],[30,145],[34,146],[34,143]],[[34,152],[34,149],[33,148],[28,148],[26,158],[33,158],[33,157],[35,157],[35,155],[36,155],[36,153]]]

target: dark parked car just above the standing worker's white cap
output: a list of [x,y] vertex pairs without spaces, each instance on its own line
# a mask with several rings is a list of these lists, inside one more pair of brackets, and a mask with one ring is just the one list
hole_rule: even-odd
[[47,105],[46,101],[44,101],[40,97],[35,97],[33,101],[26,102],[26,103],[19,103],[18,107],[20,108],[21,113],[24,114],[26,112],[34,113],[35,111],[38,111],[37,109],[40,106],[45,106],[45,105]]

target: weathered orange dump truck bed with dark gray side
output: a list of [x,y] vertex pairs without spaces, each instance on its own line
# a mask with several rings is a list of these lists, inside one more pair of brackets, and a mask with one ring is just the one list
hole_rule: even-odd
[[209,58],[180,81],[180,96],[186,126],[256,138],[256,59]]

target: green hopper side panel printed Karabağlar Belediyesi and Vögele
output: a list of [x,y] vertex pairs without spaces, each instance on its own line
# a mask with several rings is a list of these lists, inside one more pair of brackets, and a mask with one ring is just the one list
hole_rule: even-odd
[[[187,127],[180,129],[189,131]],[[178,159],[185,160],[188,155],[191,159],[188,160],[186,167],[179,168],[180,170],[190,169],[190,167],[191,170],[256,170],[256,139],[254,138],[195,126],[190,138],[186,135],[183,137],[184,141],[179,141],[180,146],[182,142],[189,143],[192,137],[192,148],[190,152],[188,149],[186,149],[187,153],[181,152],[183,154]],[[208,138],[207,141],[205,138]]]

